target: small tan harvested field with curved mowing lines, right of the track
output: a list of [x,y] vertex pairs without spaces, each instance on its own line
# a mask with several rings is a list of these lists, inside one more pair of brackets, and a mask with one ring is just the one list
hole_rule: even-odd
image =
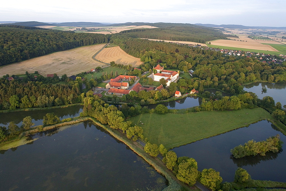
[[100,53],[98,53],[95,58],[105,63],[115,61],[117,64],[131,64],[132,66],[138,66],[143,63],[140,61],[140,58],[136,58],[127,54],[119,46],[105,48],[100,51]]

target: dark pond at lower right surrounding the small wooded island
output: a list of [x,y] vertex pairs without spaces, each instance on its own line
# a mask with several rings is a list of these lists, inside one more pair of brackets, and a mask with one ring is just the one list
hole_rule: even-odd
[[[188,156],[198,162],[198,170],[213,168],[220,172],[223,182],[232,182],[235,170],[240,167],[251,175],[253,180],[285,182],[286,152],[267,152],[266,156],[249,156],[233,159],[230,150],[249,140],[261,141],[279,134],[286,146],[286,136],[268,121],[260,121],[249,127],[240,128],[215,137],[203,139],[172,149],[177,156]],[[266,173],[267,172],[267,173]]]

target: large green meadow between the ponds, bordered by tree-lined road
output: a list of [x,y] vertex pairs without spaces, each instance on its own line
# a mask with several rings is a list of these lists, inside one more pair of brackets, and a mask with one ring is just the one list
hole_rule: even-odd
[[139,126],[143,128],[145,138],[151,143],[163,144],[167,149],[225,133],[262,119],[273,118],[262,108],[191,114],[154,113],[130,118],[133,124],[144,124]]

